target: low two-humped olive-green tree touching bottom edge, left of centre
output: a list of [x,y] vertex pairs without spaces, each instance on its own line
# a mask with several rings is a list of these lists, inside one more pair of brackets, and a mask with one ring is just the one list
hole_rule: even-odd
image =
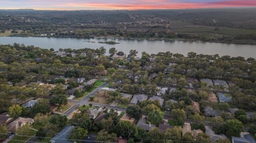
[[104,129],[98,132],[98,135],[95,138],[96,141],[101,142],[116,142],[117,135],[115,133],[108,134],[108,131]]

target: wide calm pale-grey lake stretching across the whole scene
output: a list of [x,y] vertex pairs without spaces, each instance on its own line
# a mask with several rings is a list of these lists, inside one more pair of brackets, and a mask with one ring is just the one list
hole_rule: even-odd
[[[104,44],[114,40],[120,44]],[[0,37],[0,44],[13,44],[14,42],[25,45],[34,45],[41,48],[100,48],[104,46],[106,52],[112,47],[129,54],[130,50],[137,50],[139,56],[142,52],[157,54],[158,52],[179,53],[186,56],[188,52],[197,54],[219,54],[220,56],[242,56],[256,58],[256,45],[249,44],[224,44],[214,42],[186,42],[164,40],[123,40],[123,39],[76,39],[76,38],[47,38],[47,37]]]

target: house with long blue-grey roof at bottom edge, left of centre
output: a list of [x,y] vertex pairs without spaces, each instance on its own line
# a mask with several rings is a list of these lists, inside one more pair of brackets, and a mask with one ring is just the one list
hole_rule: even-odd
[[60,131],[54,138],[50,140],[51,143],[73,143],[69,140],[69,137],[74,129],[73,126],[68,125],[62,131]]

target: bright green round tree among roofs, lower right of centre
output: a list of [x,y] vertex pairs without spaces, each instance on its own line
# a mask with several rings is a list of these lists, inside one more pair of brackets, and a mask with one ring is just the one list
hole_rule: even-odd
[[148,114],[148,121],[155,125],[158,125],[163,120],[164,112],[161,110],[153,110]]

